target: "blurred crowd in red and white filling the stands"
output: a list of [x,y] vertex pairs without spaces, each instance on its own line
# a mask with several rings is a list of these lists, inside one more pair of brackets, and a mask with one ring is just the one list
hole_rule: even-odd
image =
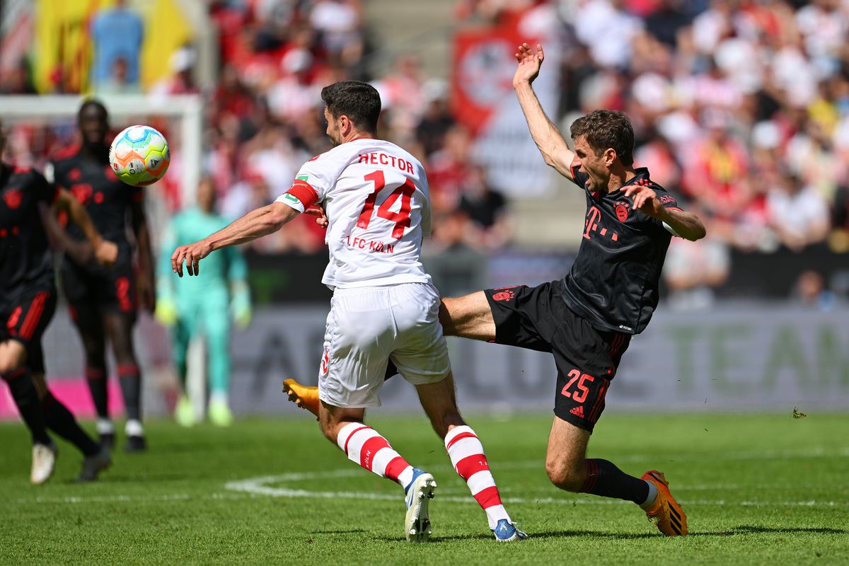
[[[289,188],[298,166],[328,149],[320,88],[372,81],[385,104],[382,132],[427,165],[436,243],[498,249],[510,241],[509,205],[469,159],[474,140],[449,109],[444,81],[402,53],[391,73],[369,76],[374,47],[359,0],[218,0],[209,3],[220,73],[203,92],[205,169],[225,216]],[[462,0],[458,25],[498,23],[543,10],[558,18],[562,95],[558,119],[621,109],[637,134],[637,165],[707,219],[709,238],[676,240],[673,289],[716,285],[729,249],[849,249],[849,3],[841,0]],[[593,39],[604,36],[603,42]],[[95,38],[96,41],[96,38]],[[127,62],[96,86],[132,92]],[[191,47],[171,57],[156,92],[200,92]],[[27,81],[5,83],[27,90]],[[95,89],[97,92],[97,88]],[[17,160],[38,162],[62,140],[13,132]],[[35,155],[33,155],[35,154]],[[178,203],[174,201],[176,207]],[[312,252],[322,233],[293,223],[262,251]],[[267,238],[268,239],[268,238]]]

